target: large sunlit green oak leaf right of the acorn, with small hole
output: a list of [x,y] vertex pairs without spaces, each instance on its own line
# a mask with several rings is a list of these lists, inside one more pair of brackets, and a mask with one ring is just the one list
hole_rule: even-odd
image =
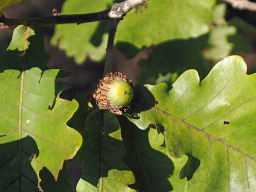
[[[147,85],[160,102],[136,119],[129,117],[141,129],[150,123],[166,128],[168,153],[188,156],[180,170],[188,192],[256,189],[256,74],[246,70],[234,55],[201,83],[196,70],[187,70],[169,91],[164,83]],[[199,167],[195,171],[190,164]]]

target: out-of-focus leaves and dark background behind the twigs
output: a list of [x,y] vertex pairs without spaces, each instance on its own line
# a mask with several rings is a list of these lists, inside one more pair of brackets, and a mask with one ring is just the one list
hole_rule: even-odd
[[[108,9],[121,1],[24,0],[5,9],[3,14],[9,18],[46,17],[52,15],[54,8],[61,14],[89,13]],[[171,87],[188,69],[196,69],[202,81],[218,61],[234,54],[244,58],[248,74],[256,72],[256,12],[233,9],[223,0],[183,0],[178,5],[174,2],[148,0],[120,21],[114,72],[125,73],[134,83],[166,82]],[[63,93],[66,98],[73,99],[77,91],[90,93],[102,78],[109,22],[41,29],[46,51],[51,55],[48,67],[73,73],[62,79],[71,87],[66,95]],[[11,38],[12,30],[0,31],[0,58]],[[74,168],[68,165],[67,169],[71,182],[76,183],[78,180],[72,174],[75,172],[79,179],[81,168],[69,172]]]

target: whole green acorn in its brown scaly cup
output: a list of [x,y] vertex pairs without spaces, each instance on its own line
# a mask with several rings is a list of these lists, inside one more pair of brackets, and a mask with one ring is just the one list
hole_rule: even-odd
[[97,89],[93,93],[99,109],[105,109],[122,115],[122,111],[129,108],[133,99],[134,84],[122,73],[108,73],[104,79],[99,80]]

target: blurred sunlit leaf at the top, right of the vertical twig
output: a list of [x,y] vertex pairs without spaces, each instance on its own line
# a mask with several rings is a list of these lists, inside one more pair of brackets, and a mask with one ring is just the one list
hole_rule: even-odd
[[141,48],[167,40],[195,38],[209,32],[215,0],[149,0],[119,22],[116,41]]

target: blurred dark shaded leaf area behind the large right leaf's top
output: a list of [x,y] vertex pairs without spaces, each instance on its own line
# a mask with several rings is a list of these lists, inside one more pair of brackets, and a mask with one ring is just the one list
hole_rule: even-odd
[[[159,74],[165,76],[169,72],[177,72],[180,75],[192,59],[195,59],[194,65],[189,67],[204,70],[200,61],[208,38],[209,34],[205,34],[198,38],[172,40],[155,45],[148,59],[139,61],[142,71],[136,80],[140,84],[155,84]],[[209,70],[204,73],[208,72]]]

